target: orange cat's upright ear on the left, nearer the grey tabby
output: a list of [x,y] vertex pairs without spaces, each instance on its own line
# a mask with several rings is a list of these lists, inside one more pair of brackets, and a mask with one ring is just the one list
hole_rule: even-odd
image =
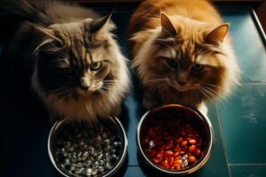
[[176,28],[164,12],[160,13],[160,23],[162,36],[174,37],[177,34]]

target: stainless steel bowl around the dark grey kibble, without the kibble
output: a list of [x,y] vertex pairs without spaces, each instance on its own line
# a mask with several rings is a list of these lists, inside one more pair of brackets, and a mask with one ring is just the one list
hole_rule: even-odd
[[[119,160],[112,166],[111,169],[106,171],[105,173],[101,173],[96,175],[98,176],[113,176],[113,174],[117,173],[117,171],[120,169],[121,165],[123,164],[128,150],[128,139],[125,133],[124,128],[121,125],[121,121],[117,118],[109,117],[107,119],[102,119],[105,123],[105,125],[110,128],[112,131],[115,131],[116,134],[120,135],[121,137],[121,153],[119,156]],[[56,151],[56,142],[58,141],[59,132],[62,130],[63,127],[66,127],[67,125],[71,124],[73,120],[70,119],[63,119],[57,121],[53,127],[51,128],[51,132],[48,138],[48,153],[49,157],[51,159],[51,163],[54,165],[54,167],[58,170],[59,173],[62,175],[69,177],[72,176],[71,174],[67,173],[64,168],[62,168],[59,165],[59,160],[56,158],[55,151]]]

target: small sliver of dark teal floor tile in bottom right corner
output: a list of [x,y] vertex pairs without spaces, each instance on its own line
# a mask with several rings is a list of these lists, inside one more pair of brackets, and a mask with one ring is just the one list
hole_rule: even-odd
[[265,177],[265,165],[231,165],[231,177]]

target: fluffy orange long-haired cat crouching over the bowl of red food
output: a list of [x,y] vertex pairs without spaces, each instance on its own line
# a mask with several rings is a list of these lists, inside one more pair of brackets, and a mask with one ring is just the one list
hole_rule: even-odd
[[205,0],[146,0],[129,21],[133,66],[145,89],[143,105],[198,107],[239,84],[239,65],[224,23]]

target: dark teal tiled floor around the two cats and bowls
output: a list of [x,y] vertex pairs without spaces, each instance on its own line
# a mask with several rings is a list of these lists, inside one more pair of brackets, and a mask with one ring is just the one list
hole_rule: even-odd
[[[113,14],[121,48],[127,53],[126,27],[130,8],[117,9]],[[266,52],[258,29],[248,8],[229,10],[221,7],[223,18],[231,22],[231,36],[242,71],[242,86],[223,103],[208,105],[208,117],[215,129],[215,148],[207,164],[192,176],[262,177],[266,176]],[[139,84],[125,100],[122,116],[129,139],[129,153],[121,176],[156,176],[146,171],[137,156],[136,128],[144,113],[140,105]],[[15,102],[17,95],[0,92],[3,115],[0,135],[0,176],[57,176],[47,154],[50,127],[46,117],[34,111],[27,98]],[[22,90],[23,91],[23,90]],[[23,95],[23,94],[22,94]],[[25,104],[25,102],[27,104]],[[22,104],[21,104],[22,103]],[[45,114],[44,114],[45,115]],[[2,175],[1,175],[2,174]]]

